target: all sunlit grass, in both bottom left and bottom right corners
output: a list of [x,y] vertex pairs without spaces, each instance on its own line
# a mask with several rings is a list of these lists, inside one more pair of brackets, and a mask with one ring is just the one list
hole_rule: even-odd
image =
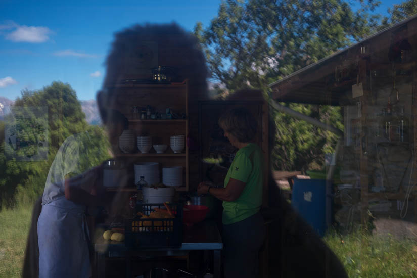
[[[0,211],[0,277],[20,277],[32,206]],[[417,278],[417,242],[361,231],[325,237],[350,278]]]

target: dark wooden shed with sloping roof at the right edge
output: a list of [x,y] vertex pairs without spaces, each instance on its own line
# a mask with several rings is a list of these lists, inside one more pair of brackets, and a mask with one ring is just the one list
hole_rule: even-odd
[[410,201],[417,215],[416,48],[414,16],[269,84],[277,102],[343,108],[338,163],[362,223],[375,201]]

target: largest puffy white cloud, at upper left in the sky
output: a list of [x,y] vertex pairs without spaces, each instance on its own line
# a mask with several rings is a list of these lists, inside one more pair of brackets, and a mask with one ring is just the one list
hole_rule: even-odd
[[[7,25],[4,26],[7,27]],[[39,43],[49,40],[48,35],[52,33],[52,31],[48,27],[26,25],[17,25],[16,27],[16,30],[6,35],[6,39],[15,42]]]

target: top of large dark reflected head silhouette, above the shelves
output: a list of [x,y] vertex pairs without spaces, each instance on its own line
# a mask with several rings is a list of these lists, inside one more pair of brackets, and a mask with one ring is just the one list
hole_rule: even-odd
[[115,34],[106,59],[106,76],[97,94],[102,119],[120,108],[120,88],[126,79],[149,79],[150,69],[166,65],[175,69],[176,80],[189,79],[189,87],[206,94],[207,68],[198,40],[175,23],[135,25]]

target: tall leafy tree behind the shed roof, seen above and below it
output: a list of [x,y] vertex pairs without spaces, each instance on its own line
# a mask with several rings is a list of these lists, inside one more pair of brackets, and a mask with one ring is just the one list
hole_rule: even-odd
[[[373,33],[380,18],[370,13],[379,2],[356,3],[359,9],[353,11],[343,0],[228,0],[209,26],[197,23],[194,33],[216,89],[267,92],[267,84]],[[343,129],[339,107],[285,105]],[[333,151],[334,135],[282,113],[272,115],[277,169],[306,169],[313,161],[319,167],[323,152]]]

